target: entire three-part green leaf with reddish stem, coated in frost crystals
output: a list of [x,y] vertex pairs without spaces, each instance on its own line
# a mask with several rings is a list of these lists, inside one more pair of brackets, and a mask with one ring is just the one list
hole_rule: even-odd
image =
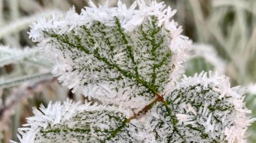
[[[20,141],[246,142],[254,121],[228,78],[179,78],[188,38],[164,3],[138,0],[41,18],[30,38],[54,61],[53,74],[102,105],[67,100],[28,118]],[[125,110],[124,110],[125,109]]]

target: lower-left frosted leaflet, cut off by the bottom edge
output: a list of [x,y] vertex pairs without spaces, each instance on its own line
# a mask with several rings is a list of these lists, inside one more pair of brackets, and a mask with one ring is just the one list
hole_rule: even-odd
[[62,105],[34,108],[35,116],[28,117],[28,124],[19,129],[21,143],[137,141],[136,125],[126,119],[129,111],[90,104],[66,100]]

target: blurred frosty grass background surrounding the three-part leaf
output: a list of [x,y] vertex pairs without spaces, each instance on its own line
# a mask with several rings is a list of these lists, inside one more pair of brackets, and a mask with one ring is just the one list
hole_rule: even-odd
[[[103,4],[105,0],[94,1]],[[110,0],[116,6],[117,0]],[[123,0],[127,5],[133,1]],[[160,2],[160,1],[158,1]],[[178,12],[174,20],[183,35],[193,40],[184,63],[187,75],[218,71],[232,86],[245,88],[246,105],[256,117],[256,1],[166,0]],[[28,38],[29,24],[39,15],[77,12],[86,0],[0,0],[0,142],[18,141],[17,129],[33,115],[32,107],[50,100],[83,100],[61,86],[50,72],[51,64]],[[6,48],[9,46],[10,48]],[[28,48],[30,47],[30,48]],[[256,123],[249,128],[249,142],[256,142]]]

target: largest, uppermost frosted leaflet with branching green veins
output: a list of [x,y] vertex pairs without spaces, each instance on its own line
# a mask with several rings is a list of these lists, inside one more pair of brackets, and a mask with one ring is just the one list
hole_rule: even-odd
[[136,1],[129,9],[120,1],[112,8],[90,5],[31,26],[30,38],[52,55],[52,72],[63,85],[138,108],[177,81],[189,43],[171,19],[175,11],[155,1]]

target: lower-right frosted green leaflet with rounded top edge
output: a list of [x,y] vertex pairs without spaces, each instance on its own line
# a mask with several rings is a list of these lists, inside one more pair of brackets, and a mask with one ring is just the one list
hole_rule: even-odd
[[185,77],[148,113],[146,130],[157,142],[245,142],[244,93],[228,78],[201,73]]

